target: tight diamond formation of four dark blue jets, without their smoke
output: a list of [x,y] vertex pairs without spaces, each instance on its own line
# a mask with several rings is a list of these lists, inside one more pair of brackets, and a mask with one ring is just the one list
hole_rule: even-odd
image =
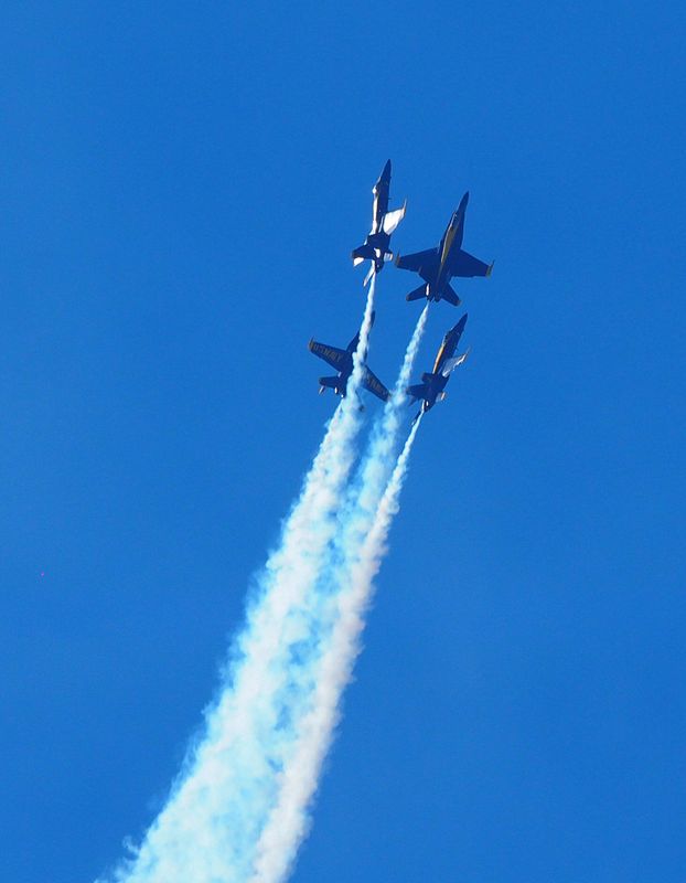
[[[458,292],[450,285],[454,277],[490,276],[493,263],[486,264],[478,257],[469,254],[462,248],[464,238],[464,215],[469,202],[469,192],[460,200],[460,204],[453,212],[446,232],[441,236],[439,244],[435,248],[427,248],[424,252],[414,254],[395,255],[390,251],[390,236],[397,228],[400,221],[405,217],[407,201],[400,209],[389,210],[390,202],[390,160],[386,162],[384,169],[372,190],[374,201],[372,206],[372,230],[363,245],[357,246],[352,252],[353,265],[357,266],[365,260],[369,260],[369,269],[364,279],[366,285],[372,277],[382,272],[384,265],[394,262],[399,269],[408,269],[419,274],[422,284],[410,291],[406,300],[427,301],[447,300],[454,307],[462,302]],[[372,313],[374,322],[374,313]],[[437,402],[446,397],[446,385],[451,373],[458,365],[464,363],[470,350],[462,354],[455,354],[460,338],[467,325],[467,313],[447,331],[443,341],[439,347],[433,370],[421,375],[421,383],[408,386],[406,394],[409,403],[421,402],[419,412],[415,421],[426,412],[430,411]],[[351,340],[345,350],[320,343],[314,339],[310,340],[309,349],[314,355],[328,362],[337,374],[330,377],[320,377],[320,393],[326,389],[333,390],[337,395],[345,396],[347,383],[353,373],[353,357],[360,344],[360,332]],[[389,398],[389,392],[378,377],[366,365],[366,352],[362,354],[362,386],[383,402]]]

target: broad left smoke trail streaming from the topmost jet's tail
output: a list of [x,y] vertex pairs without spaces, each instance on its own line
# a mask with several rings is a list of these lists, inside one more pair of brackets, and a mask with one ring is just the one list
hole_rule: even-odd
[[374,296],[373,278],[347,397],[330,422],[279,547],[258,581],[218,700],[205,713],[204,732],[167,805],[135,855],[115,871],[117,881],[238,883],[250,873],[279,772],[298,735],[294,722],[313,689],[314,588],[354,461],[356,392]]

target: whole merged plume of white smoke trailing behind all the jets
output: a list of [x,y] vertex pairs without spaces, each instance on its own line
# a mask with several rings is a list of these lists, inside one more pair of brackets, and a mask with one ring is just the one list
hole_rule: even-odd
[[428,305],[351,479],[375,284],[373,276],[347,396],[259,574],[219,695],[167,805],[109,877],[117,883],[279,883],[307,834],[420,423],[395,460]]

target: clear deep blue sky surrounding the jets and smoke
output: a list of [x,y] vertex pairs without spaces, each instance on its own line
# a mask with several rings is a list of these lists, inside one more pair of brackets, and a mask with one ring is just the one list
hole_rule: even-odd
[[[455,286],[472,357],[294,880],[680,883],[683,6],[343,6],[4,8],[0,879],[87,883],[160,807],[332,413],[307,342],[355,331],[390,157],[396,246],[470,190],[495,268]],[[387,384],[415,285],[379,279]]]

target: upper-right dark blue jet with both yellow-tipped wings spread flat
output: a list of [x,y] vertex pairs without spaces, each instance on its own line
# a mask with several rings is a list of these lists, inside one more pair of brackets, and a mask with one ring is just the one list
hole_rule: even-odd
[[400,269],[411,269],[418,273],[426,285],[420,285],[407,295],[407,300],[448,300],[454,307],[460,305],[457,291],[450,287],[453,276],[490,276],[493,264],[484,264],[476,257],[462,251],[464,236],[464,212],[469,193],[460,201],[458,210],[453,212],[450,223],[437,248],[417,252],[414,255],[398,255],[396,266]]

